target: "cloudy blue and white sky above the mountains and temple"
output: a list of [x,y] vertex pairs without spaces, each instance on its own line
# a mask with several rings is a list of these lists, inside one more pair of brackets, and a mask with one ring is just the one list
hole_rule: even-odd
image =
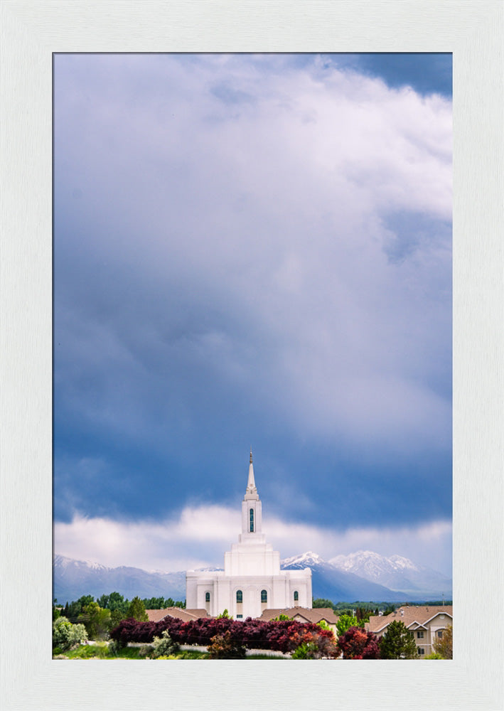
[[451,571],[451,55],[55,55],[55,552]]

